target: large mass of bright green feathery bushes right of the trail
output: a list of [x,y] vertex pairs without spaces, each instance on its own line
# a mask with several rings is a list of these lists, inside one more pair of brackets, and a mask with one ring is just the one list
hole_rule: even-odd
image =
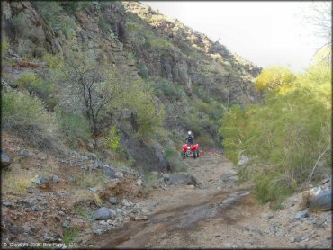
[[[295,190],[294,183],[298,187],[309,183],[312,172],[314,179],[316,173],[329,174],[330,70],[324,65],[310,67],[305,74],[292,77],[292,82],[287,77],[287,84],[275,85],[275,91],[266,93],[266,104],[252,104],[245,109],[233,106],[224,115],[220,134],[226,154],[234,163],[245,154],[259,156],[262,162],[273,166],[275,174],[256,177],[261,201],[268,201],[269,195],[275,201],[282,201]],[[324,164],[314,172],[319,160]],[[280,177],[293,185],[280,186],[282,182],[275,182]],[[275,186],[276,192],[268,188],[270,185]]]

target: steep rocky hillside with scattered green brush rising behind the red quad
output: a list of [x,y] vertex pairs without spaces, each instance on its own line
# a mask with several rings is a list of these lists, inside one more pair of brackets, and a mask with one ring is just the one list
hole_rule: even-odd
[[[122,139],[130,156],[146,166],[165,169],[159,144],[175,148],[174,142],[181,143],[188,129],[202,141],[202,147],[220,147],[217,121],[225,108],[233,103],[257,100],[251,79],[260,72],[259,67],[139,2],[4,2],[3,13],[3,43],[7,46],[3,80],[17,87],[23,85],[17,83],[19,78],[31,72],[40,82],[51,79],[48,89],[40,90],[49,92],[40,94],[44,95],[49,111],[56,106],[63,110],[66,107],[67,112],[77,113],[90,122],[82,109],[64,104],[68,98],[65,95],[72,93],[67,85],[61,85],[60,73],[56,73],[60,71],[57,63],[78,57],[73,55],[73,48],[84,51],[84,57],[94,59],[105,70],[118,75],[120,86],[127,83],[130,88],[134,82],[141,81],[140,88],[149,89],[144,92],[153,96],[151,109],[160,112],[158,115],[165,114],[160,129],[154,129],[155,133],[149,137],[162,140],[158,139],[157,144],[147,143],[144,136],[141,138],[146,138],[146,142],[139,146],[133,138],[140,129],[137,123],[144,123],[139,119],[151,119],[142,110],[136,111],[137,116],[141,112],[138,118],[130,114],[133,107],[125,112],[121,106],[120,112],[118,105],[110,122],[130,139]],[[29,88],[27,85],[23,88]],[[99,123],[99,128],[93,129],[98,134],[111,126],[100,121],[95,123]],[[162,130],[163,135],[157,135],[157,130]],[[81,146],[86,146],[87,138],[82,140],[83,144],[80,141]],[[92,139],[90,144],[96,147],[96,138]],[[142,154],[137,150],[142,150]],[[143,152],[149,157],[144,158]]]

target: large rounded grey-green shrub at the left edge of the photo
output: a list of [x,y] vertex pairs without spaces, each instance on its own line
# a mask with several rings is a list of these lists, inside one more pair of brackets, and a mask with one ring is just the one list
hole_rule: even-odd
[[56,148],[58,127],[54,115],[44,109],[43,103],[27,92],[6,90],[2,95],[4,130],[16,132],[36,147]]

